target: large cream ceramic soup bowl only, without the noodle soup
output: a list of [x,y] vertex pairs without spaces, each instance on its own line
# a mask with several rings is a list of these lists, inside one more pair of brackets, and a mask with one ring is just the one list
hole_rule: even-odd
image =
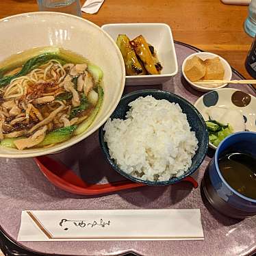
[[79,136],[48,149],[0,147],[0,157],[35,157],[62,151],[90,136],[112,114],[125,86],[123,57],[112,38],[83,18],[60,12],[31,12],[0,20],[0,61],[34,47],[59,46],[88,58],[103,70],[104,100],[92,125]]

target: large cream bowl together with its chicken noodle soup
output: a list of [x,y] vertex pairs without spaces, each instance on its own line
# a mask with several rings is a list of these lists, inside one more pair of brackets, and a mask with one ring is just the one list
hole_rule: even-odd
[[56,153],[105,123],[125,86],[123,57],[105,31],[33,12],[3,18],[0,32],[0,157]]

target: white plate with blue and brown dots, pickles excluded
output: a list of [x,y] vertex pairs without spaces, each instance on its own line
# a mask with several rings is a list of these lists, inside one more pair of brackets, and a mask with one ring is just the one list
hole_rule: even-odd
[[[238,97],[239,94],[240,97]],[[244,100],[247,97],[251,99],[248,105],[245,104],[246,101]],[[241,107],[238,103],[244,106]],[[225,107],[229,110],[238,110],[244,116],[246,131],[256,131],[256,97],[251,94],[246,94],[233,88],[212,90],[212,92],[203,94],[194,103],[194,107],[199,110],[205,121],[209,120],[209,116],[206,113],[208,107]],[[211,142],[209,142],[209,146],[212,149],[217,149]]]

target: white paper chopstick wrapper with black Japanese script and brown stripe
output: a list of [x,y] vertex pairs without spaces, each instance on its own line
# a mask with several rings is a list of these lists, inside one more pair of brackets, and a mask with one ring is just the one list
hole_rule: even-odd
[[23,211],[18,241],[203,240],[200,209]]

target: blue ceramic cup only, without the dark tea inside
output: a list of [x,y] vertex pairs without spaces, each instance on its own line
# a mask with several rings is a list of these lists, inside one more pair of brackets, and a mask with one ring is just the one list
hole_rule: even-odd
[[218,159],[229,149],[256,157],[256,132],[233,133],[222,140],[205,170],[201,183],[203,193],[209,203],[226,216],[246,218],[256,215],[256,199],[248,198],[231,188],[220,172]]

